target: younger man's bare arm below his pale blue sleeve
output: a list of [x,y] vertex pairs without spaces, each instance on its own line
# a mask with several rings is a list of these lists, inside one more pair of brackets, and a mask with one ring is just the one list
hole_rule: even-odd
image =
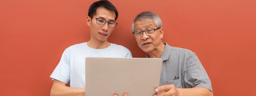
[[84,88],[73,88],[55,79],[52,84],[51,96],[85,96]]

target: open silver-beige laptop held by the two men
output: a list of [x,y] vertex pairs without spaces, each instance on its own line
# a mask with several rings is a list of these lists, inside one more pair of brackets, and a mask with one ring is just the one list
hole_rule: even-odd
[[152,96],[163,60],[159,58],[85,58],[85,96]]

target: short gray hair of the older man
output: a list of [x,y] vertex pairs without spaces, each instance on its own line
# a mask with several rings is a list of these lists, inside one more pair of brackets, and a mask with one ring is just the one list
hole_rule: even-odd
[[141,21],[141,20],[152,20],[152,21],[154,21],[157,28],[161,28],[163,26],[162,20],[156,13],[150,12],[150,11],[144,11],[144,12],[141,12],[140,14],[138,14],[134,18],[134,20],[132,22],[132,32],[134,32],[134,22]]

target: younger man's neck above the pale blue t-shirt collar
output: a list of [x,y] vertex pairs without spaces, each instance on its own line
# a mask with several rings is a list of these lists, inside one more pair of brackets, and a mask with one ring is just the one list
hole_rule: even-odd
[[94,48],[94,49],[105,49],[108,46],[110,46],[110,43],[107,40],[105,40],[105,41],[94,41],[94,40],[90,39],[87,42],[87,45],[91,48]]

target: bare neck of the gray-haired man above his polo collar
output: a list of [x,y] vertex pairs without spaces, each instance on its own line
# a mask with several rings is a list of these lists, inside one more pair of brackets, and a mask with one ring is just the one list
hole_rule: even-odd
[[160,58],[162,53],[164,52],[164,47],[164,43],[158,45],[155,51],[148,53],[149,58]]

